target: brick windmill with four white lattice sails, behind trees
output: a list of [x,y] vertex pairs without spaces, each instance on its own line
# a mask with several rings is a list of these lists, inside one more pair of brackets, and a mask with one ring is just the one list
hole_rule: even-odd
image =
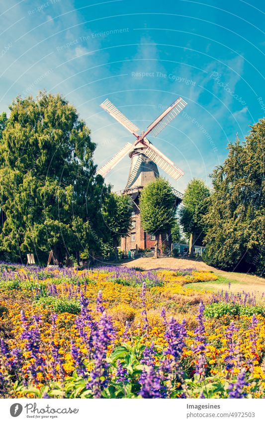
[[[134,254],[137,249],[154,249],[155,236],[144,232],[141,226],[141,216],[139,209],[139,196],[141,190],[154,178],[159,176],[158,166],[169,176],[177,180],[183,175],[183,172],[177,165],[165,156],[152,142],[146,138],[148,134],[157,136],[173,119],[186,107],[187,103],[178,97],[177,100],[169,106],[149,127],[138,135],[139,128],[129,121],[108,99],[100,106],[116,119],[124,128],[136,137],[132,144],[127,142],[124,147],[117,152],[106,164],[104,164],[97,173],[105,176],[114,166],[116,166],[127,154],[131,158],[131,166],[127,184],[122,194],[130,195],[134,205],[133,222],[131,234],[126,238],[121,238],[121,250],[127,254]],[[176,191],[177,203],[181,201],[181,194]],[[159,248],[164,244],[165,247],[171,246],[171,235],[162,234],[159,240]]]

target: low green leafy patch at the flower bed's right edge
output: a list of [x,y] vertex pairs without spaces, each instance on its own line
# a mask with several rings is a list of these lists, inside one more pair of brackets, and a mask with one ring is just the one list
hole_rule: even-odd
[[262,305],[241,305],[232,302],[213,302],[205,306],[204,315],[208,318],[220,318],[224,315],[229,316],[253,316],[261,314],[265,316],[265,307]]

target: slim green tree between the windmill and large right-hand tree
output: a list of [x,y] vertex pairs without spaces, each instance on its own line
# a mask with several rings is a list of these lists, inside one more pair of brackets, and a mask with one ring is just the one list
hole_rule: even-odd
[[190,256],[193,255],[194,245],[201,244],[205,236],[203,216],[207,212],[209,195],[209,188],[201,179],[196,178],[188,183],[184,192],[179,216],[185,235],[190,237]]

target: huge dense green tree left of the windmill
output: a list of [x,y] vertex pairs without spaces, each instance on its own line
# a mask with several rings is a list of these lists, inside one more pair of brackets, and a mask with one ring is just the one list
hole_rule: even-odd
[[92,161],[95,144],[59,94],[17,98],[0,142],[0,251],[13,260],[37,252],[58,261],[105,239],[101,203],[109,193]]

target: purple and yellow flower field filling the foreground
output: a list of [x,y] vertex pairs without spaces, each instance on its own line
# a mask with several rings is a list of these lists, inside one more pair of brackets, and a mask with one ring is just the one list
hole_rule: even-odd
[[263,298],[215,280],[0,264],[1,398],[264,398]]

